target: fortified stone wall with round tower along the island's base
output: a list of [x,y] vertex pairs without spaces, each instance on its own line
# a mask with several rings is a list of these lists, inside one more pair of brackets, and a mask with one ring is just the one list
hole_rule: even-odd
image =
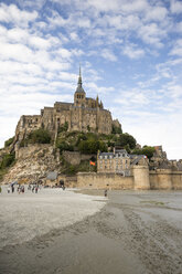
[[77,188],[182,190],[182,171],[159,169],[149,171],[146,166],[132,167],[132,176],[117,173],[79,172]]

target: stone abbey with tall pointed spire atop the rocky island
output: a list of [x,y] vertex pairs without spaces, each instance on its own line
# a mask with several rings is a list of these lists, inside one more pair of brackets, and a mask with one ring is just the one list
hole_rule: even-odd
[[120,127],[118,120],[113,120],[110,112],[104,109],[98,96],[96,99],[86,97],[81,67],[74,103],[56,102],[53,107],[41,109],[41,115],[21,116],[15,129],[15,139],[22,140],[30,131],[39,128],[49,129],[54,139],[58,128],[65,123],[68,125],[68,131],[110,134],[113,125]]

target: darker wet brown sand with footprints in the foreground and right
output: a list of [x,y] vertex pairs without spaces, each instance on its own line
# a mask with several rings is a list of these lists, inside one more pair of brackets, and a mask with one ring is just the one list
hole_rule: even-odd
[[182,192],[109,191],[96,214],[6,246],[0,273],[182,274]]

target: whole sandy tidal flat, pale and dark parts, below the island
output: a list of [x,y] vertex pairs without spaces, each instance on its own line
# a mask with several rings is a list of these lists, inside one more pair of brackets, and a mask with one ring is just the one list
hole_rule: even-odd
[[182,273],[182,191],[3,189],[0,224],[0,273]]

